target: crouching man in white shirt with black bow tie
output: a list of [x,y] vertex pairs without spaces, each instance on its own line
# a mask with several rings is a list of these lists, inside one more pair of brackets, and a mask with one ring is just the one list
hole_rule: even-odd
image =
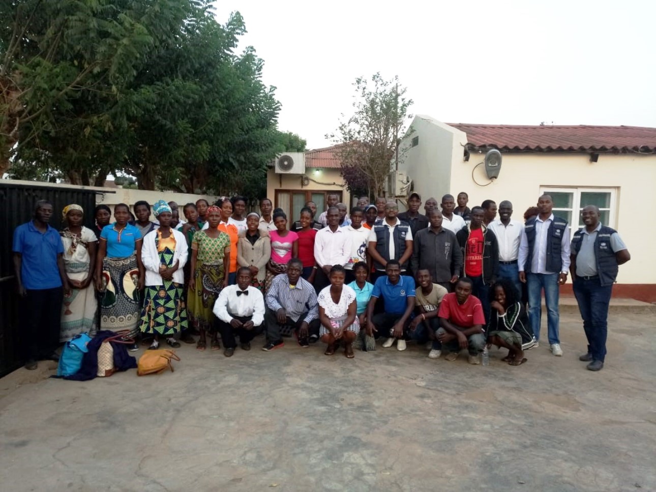
[[251,340],[264,329],[264,296],[251,286],[251,269],[242,266],[237,270],[237,285],[228,285],[218,295],[213,309],[218,318],[225,350],[223,355],[235,353],[237,341],[243,350],[251,350]]

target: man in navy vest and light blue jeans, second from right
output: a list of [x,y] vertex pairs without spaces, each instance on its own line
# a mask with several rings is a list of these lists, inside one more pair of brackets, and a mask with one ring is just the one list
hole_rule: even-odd
[[[540,338],[542,291],[546,304],[546,320],[551,353],[562,356],[558,335],[559,286],[567,281],[569,268],[569,228],[567,220],[552,213],[554,202],[550,195],[537,201],[538,215],[524,225],[517,259],[520,281],[527,283],[529,293],[529,322],[535,339]],[[538,346],[539,342],[535,342]]]

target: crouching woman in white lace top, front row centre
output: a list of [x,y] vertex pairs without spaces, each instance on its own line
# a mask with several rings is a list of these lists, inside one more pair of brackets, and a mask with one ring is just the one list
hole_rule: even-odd
[[340,340],[344,340],[344,355],[352,359],[353,341],[360,331],[358,316],[358,304],[356,303],[356,292],[344,285],[346,270],[341,265],[331,268],[328,275],[331,285],[322,289],[319,293],[319,337],[328,345],[325,351],[327,356],[335,354],[335,346]]

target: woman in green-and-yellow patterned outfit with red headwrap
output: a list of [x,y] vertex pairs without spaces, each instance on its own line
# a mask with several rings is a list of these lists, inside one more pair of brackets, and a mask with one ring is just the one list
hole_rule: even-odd
[[[228,202],[230,203],[230,202]],[[187,291],[187,309],[194,327],[199,331],[196,348],[207,347],[206,333],[212,333],[212,350],[221,348],[216,330],[213,329],[212,309],[223,287],[228,286],[230,269],[230,236],[218,230],[221,211],[218,207],[207,209],[209,227],[198,231],[192,239],[192,278]]]

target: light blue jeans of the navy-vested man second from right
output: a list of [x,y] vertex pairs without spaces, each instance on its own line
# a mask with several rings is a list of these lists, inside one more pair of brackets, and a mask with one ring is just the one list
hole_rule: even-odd
[[546,324],[549,344],[560,343],[558,337],[558,274],[526,274],[529,288],[529,323],[535,334],[535,340],[540,340],[540,323],[542,321],[542,291],[544,289],[544,304],[546,304]]

